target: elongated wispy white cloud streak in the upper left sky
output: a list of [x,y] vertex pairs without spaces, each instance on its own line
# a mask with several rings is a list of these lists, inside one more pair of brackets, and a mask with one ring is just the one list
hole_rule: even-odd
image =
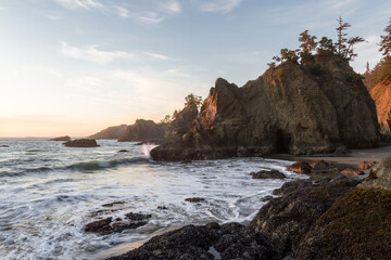
[[64,56],[77,58],[77,60],[84,60],[88,62],[93,62],[98,64],[105,64],[109,62],[112,62],[114,60],[129,60],[134,58],[135,55],[127,53],[127,52],[121,52],[121,51],[100,51],[98,50],[98,46],[90,46],[87,48],[78,48],[78,47],[72,47],[68,43],[62,41],[61,42],[61,54]]

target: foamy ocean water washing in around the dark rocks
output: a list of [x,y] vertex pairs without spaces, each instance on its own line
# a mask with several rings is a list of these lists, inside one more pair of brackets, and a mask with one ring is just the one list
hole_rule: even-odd
[[[306,178],[287,171],[290,161],[156,162],[149,156],[152,145],[98,143],[100,147],[75,148],[47,139],[0,139],[0,259],[104,259],[186,224],[248,223],[273,190]],[[287,179],[249,176],[263,169],[277,169]],[[189,197],[205,200],[186,202]],[[102,209],[111,212],[94,213]],[[122,233],[84,232],[99,218],[128,212],[152,218]]]

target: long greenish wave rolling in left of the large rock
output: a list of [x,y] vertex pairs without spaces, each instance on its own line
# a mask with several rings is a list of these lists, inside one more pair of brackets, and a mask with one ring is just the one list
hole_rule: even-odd
[[141,156],[141,157],[133,157],[133,158],[124,158],[124,159],[113,159],[106,161],[91,160],[77,162],[73,165],[68,165],[65,167],[37,167],[30,169],[21,169],[16,171],[0,171],[0,177],[21,177],[31,173],[41,173],[41,172],[50,172],[50,171],[81,171],[81,172],[91,172],[106,169],[114,169],[121,166],[126,165],[137,165],[137,164],[151,164],[152,160],[150,157]]

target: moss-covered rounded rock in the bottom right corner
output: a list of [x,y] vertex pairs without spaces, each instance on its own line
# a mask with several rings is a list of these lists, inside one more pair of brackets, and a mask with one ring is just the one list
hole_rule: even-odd
[[390,259],[391,191],[356,187],[316,221],[288,259]]

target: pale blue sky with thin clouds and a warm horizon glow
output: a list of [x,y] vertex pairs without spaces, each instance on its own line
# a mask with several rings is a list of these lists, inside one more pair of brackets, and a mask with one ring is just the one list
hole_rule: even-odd
[[336,39],[337,18],[381,58],[387,0],[0,0],[0,136],[86,136],[160,121],[218,77],[255,79],[305,29]]

